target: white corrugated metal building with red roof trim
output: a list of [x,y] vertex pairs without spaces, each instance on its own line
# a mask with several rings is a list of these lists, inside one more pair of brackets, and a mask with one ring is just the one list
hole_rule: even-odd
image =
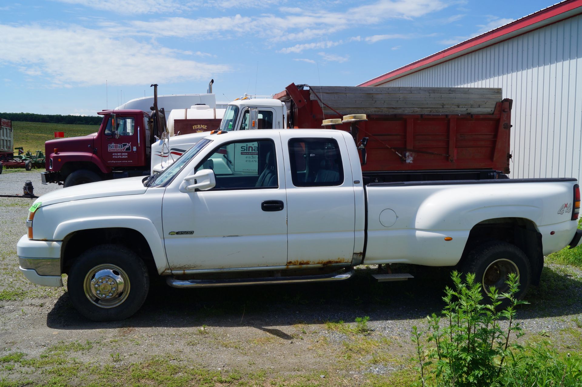
[[582,180],[582,0],[566,0],[359,86],[501,87],[510,177]]

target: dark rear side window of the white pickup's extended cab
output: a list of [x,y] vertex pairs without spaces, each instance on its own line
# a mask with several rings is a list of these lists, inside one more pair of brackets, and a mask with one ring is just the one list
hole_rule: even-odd
[[343,184],[342,156],[335,139],[290,139],[289,161],[293,185],[296,187]]

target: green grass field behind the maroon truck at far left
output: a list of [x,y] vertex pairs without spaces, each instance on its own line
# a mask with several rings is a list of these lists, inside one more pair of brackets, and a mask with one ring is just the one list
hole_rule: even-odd
[[[99,130],[99,125],[65,125],[58,123],[12,121],[14,146],[24,151],[44,152],[44,143],[55,137],[55,132],[65,132],[65,137],[86,136]],[[17,152],[15,152],[16,154]]]

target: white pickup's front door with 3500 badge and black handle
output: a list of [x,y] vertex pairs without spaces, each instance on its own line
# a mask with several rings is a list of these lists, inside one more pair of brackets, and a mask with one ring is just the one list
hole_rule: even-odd
[[216,186],[184,192],[176,181],[164,194],[170,268],[285,267],[287,200],[279,134],[227,142],[222,140],[228,133],[214,138],[194,170],[187,168],[191,174],[212,169]]

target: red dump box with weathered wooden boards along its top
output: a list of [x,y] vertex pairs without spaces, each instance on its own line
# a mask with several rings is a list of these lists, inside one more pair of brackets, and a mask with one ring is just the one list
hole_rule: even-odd
[[[343,87],[290,84],[274,96],[288,127],[320,128],[322,120],[365,114],[343,123],[365,147],[371,171],[489,170],[509,173],[512,100],[501,88]],[[328,126],[328,128],[330,128]]]

